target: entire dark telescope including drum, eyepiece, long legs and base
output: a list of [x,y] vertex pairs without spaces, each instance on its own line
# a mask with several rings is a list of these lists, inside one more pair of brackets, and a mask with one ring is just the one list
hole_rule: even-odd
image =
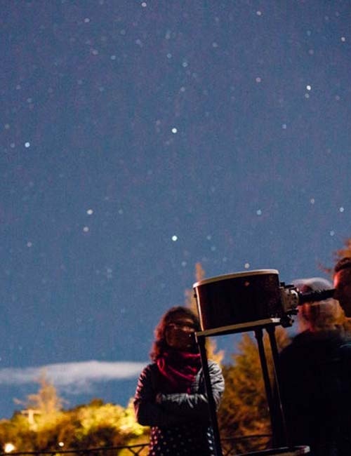
[[[268,409],[272,424],[273,443],[276,450],[255,452],[256,455],[282,455],[285,450],[291,455],[308,452],[308,447],[291,449],[286,429],[284,410],[279,393],[279,368],[275,326],[291,326],[293,315],[298,313],[298,306],[305,302],[322,301],[333,297],[335,290],[321,290],[301,293],[296,286],[279,281],[277,269],[258,269],[256,271],[237,272],[204,279],[194,283],[194,294],[201,323],[201,331],[196,333],[197,343],[204,370],[204,380],[208,395],[208,409],[213,428],[216,456],[222,456],[220,432],[218,429],[216,402],[213,398],[211,377],[208,372],[206,355],[206,337],[242,333],[253,330],[258,344],[258,353],[262,368],[267,396]],[[273,384],[267,365],[263,329],[267,331],[272,354]],[[281,448],[286,445],[286,448]],[[301,452],[300,452],[301,450]],[[274,452],[272,452],[274,451]],[[253,455],[253,453],[250,453]],[[249,456],[249,455],[248,455]]]

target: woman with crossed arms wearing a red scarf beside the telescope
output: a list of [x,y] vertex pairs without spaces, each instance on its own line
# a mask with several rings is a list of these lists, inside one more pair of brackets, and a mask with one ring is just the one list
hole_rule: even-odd
[[[213,436],[199,349],[199,319],[186,307],[172,307],[155,329],[152,364],[140,374],[134,408],[138,423],[150,426],[150,456],[211,456]],[[222,372],[208,361],[213,397],[224,390]]]

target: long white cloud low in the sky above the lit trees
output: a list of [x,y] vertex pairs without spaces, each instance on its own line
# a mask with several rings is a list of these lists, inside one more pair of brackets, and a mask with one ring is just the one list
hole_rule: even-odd
[[0,369],[0,385],[34,383],[45,373],[48,380],[61,391],[81,393],[89,391],[93,383],[136,378],[145,364],[133,361],[81,361],[30,368],[3,368]]

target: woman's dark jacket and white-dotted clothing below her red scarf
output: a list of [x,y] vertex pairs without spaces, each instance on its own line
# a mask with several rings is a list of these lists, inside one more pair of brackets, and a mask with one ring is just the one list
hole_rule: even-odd
[[[218,405],[224,391],[223,375],[218,364],[213,361],[208,361],[208,369],[213,397]],[[213,454],[202,369],[192,383],[190,394],[162,394],[160,376],[157,365],[149,364],[140,374],[134,398],[138,423],[152,428],[150,455]]]

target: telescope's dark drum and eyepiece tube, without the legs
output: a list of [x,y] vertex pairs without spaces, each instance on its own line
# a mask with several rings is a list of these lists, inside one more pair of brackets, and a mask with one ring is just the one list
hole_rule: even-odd
[[279,318],[291,326],[298,306],[333,297],[335,289],[300,293],[279,281],[277,269],[258,269],[212,277],[194,283],[202,330]]

